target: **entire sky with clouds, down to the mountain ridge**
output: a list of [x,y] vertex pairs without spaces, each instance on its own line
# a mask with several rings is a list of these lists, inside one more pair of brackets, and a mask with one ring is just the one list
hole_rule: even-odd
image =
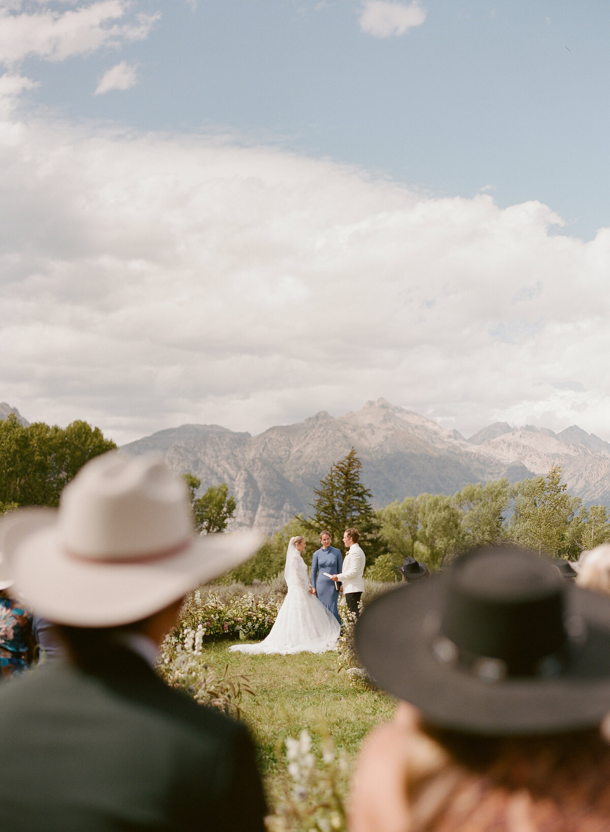
[[610,439],[610,6],[0,0],[0,400]]

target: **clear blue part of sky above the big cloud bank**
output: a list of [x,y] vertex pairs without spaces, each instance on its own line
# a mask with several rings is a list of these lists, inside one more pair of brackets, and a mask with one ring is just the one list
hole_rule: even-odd
[[229,131],[434,195],[543,201],[590,239],[610,224],[610,6],[423,4],[400,37],[355,0],[141,2],[161,20],[122,58],[139,82],[92,96],[116,51],[24,63],[31,101],[145,130]]

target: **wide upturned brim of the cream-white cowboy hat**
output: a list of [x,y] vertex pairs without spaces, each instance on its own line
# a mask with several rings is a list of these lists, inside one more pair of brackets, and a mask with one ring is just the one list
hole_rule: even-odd
[[[120,626],[167,607],[202,583],[239,566],[259,549],[260,532],[193,537],[181,552],[142,562],[96,562],[62,547],[57,513],[30,509],[4,536],[15,587],[48,621]],[[8,545],[7,545],[8,544]]]

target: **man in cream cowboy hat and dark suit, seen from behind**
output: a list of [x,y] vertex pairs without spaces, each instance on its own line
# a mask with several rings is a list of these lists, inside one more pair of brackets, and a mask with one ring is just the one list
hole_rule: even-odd
[[0,537],[67,651],[0,690],[2,832],[262,832],[245,728],[152,667],[186,592],[245,561],[258,535],[196,536],[181,479],[156,457],[108,453],[57,512],[14,512]]

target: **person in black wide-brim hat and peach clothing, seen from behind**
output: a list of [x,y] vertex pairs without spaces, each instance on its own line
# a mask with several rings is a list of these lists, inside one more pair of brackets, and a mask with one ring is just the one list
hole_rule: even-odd
[[351,832],[610,829],[610,599],[492,548],[371,603],[355,644],[400,703],[360,756]]

